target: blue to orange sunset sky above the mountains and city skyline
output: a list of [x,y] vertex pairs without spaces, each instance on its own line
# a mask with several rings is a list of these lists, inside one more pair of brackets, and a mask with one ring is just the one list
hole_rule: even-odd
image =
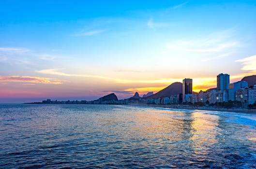
[[0,103],[118,99],[256,74],[255,0],[1,0]]

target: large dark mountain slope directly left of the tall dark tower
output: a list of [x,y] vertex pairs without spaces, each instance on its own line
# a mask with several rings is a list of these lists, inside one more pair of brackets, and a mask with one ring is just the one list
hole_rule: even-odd
[[180,93],[182,93],[182,83],[175,82],[173,84],[170,84],[163,90],[160,90],[159,92],[143,99],[158,99],[161,97],[170,97],[171,95],[178,95]]

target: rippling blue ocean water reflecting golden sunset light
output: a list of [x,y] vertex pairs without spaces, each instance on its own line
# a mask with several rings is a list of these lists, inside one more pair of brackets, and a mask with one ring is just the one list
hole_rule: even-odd
[[256,115],[0,104],[0,168],[256,168]]

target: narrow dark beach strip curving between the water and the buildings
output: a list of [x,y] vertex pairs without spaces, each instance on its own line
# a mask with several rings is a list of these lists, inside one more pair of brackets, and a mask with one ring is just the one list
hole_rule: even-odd
[[256,110],[253,109],[224,109],[214,107],[196,107],[196,106],[182,106],[182,105],[163,105],[163,104],[128,104],[129,106],[141,106],[141,107],[154,107],[154,108],[169,108],[169,109],[184,109],[184,110],[202,110],[202,111],[217,111],[217,112],[232,112],[256,115]]

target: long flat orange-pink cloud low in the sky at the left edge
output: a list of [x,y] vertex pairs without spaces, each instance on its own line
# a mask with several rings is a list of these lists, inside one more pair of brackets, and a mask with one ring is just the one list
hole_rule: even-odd
[[0,82],[25,82],[38,84],[62,84],[61,80],[32,76],[0,76]]

